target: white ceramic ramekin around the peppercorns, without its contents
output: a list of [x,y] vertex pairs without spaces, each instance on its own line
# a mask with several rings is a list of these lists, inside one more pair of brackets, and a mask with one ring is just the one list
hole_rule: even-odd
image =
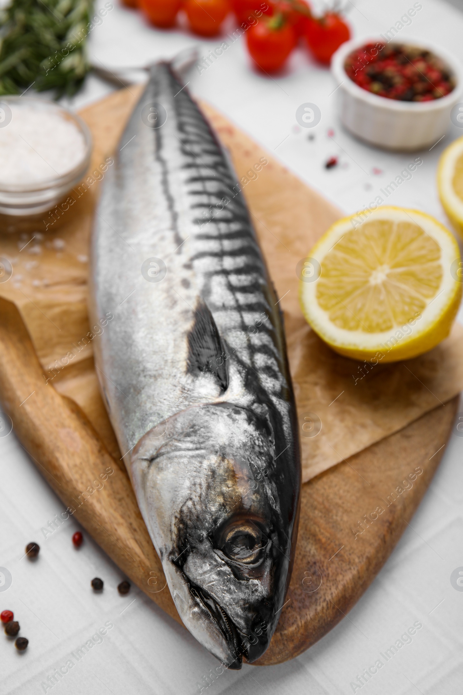
[[369,36],[347,41],[331,60],[332,74],[339,85],[339,115],[342,124],[360,140],[385,149],[410,151],[430,147],[445,135],[451,124],[451,111],[463,92],[463,66],[447,51],[416,38],[397,36],[391,43],[431,51],[444,60],[455,78],[453,91],[434,101],[396,101],[378,97],[353,82],[344,70],[351,51],[366,44],[385,43]]

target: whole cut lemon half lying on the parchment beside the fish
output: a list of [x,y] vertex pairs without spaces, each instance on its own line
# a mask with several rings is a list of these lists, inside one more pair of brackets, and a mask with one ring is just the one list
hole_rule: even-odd
[[416,210],[380,207],[335,222],[299,272],[305,318],[333,350],[377,363],[430,350],[462,296],[452,234]]

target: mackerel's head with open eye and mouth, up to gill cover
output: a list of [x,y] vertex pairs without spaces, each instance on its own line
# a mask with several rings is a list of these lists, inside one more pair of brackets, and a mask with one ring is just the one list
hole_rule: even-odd
[[133,457],[178,613],[228,668],[264,653],[284,603],[297,500],[279,463],[269,418],[230,404],[181,411]]

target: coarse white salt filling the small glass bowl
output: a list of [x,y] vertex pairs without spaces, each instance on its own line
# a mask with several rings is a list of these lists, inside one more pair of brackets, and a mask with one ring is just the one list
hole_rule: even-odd
[[0,185],[34,185],[57,179],[85,156],[85,139],[55,104],[10,102],[11,120],[0,128]]

